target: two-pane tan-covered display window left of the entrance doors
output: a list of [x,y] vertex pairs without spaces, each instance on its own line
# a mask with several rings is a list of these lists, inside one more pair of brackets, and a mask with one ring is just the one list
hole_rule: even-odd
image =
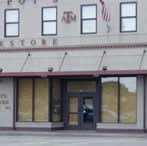
[[18,80],[18,121],[48,121],[49,85],[47,78]]

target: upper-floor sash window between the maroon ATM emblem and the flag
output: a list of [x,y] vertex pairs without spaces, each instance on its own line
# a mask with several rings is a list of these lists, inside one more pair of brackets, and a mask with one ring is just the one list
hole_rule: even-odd
[[97,7],[95,5],[81,6],[81,33],[90,34],[97,32]]

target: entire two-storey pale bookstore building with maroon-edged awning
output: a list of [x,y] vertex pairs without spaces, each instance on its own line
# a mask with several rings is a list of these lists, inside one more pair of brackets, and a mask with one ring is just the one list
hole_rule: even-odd
[[1,2],[0,130],[146,132],[146,3]]

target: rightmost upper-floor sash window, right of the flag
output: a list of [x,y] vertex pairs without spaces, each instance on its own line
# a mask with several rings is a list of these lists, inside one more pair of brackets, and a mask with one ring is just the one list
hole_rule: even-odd
[[137,31],[137,5],[136,2],[120,4],[120,32]]

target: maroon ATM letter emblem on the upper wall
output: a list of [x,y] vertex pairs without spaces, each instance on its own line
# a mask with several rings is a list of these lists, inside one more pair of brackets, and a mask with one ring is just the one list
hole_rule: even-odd
[[76,21],[76,15],[72,11],[64,11],[62,21],[66,23]]

